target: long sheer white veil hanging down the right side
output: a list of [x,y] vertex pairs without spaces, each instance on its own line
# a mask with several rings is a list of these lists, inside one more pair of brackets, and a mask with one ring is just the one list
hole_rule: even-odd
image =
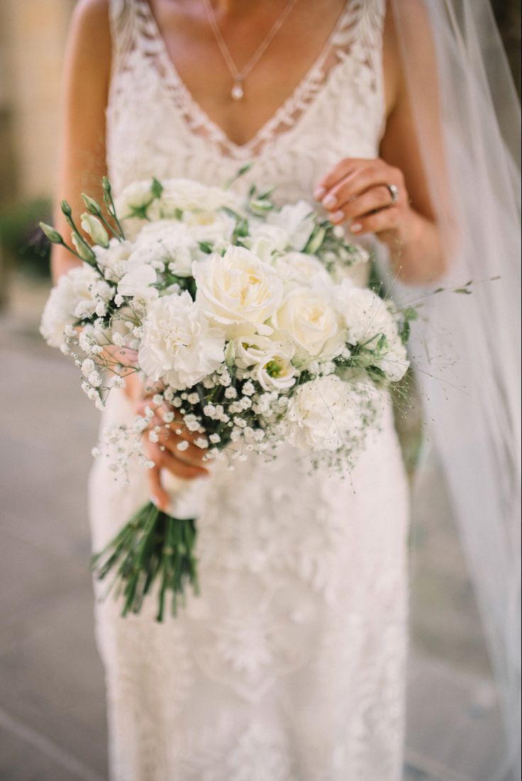
[[[470,295],[426,299],[429,322],[420,321],[413,351],[427,438],[445,476],[505,726],[506,747],[483,778],[514,779],[520,777],[520,106],[488,0],[392,0],[391,8],[451,258],[445,283],[473,280]],[[396,294],[413,298],[403,288]],[[422,490],[422,468],[417,483]],[[445,766],[455,740],[446,737],[447,743],[442,736],[433,741],[434,760]]]

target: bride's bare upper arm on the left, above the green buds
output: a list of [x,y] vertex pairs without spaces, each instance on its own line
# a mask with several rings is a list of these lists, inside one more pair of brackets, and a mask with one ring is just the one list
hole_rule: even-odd
[[[69,201],[74,215],[85,211],[82,191],[102,202],[110,61],[108,0],[80,0],[73,12],[64,63],[57,190],[57,202]],[[69,236],[59,205],[55,226],[64,237]],[[54,279],[76,262],[63,247],[55,246]]]

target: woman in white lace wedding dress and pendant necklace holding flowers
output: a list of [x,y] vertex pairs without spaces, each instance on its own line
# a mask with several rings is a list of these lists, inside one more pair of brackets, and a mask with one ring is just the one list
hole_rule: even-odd
[[[434,70],[424,9],[403,5]],[[81,210],[104,173],[117,193],[152,176],[223,184],[253,162],[241,187],[315,198],[377,236],[392,276],[427,284],[447,255],[400,50],[386,0],[80,0],[59,197]],[[435,89],[424,103],[440,162]],[[55,276],[70,262],[57,248]],[[104,423],[132,419],[143,394],[129,380]],[[231,473],[176,444],[148,444],[156,469],[128,487],[104,462],[91,474],[99,550],[148,497],[168,505],[171,474],[209,473],[202,596],[165,624],[97,603],[111,778],[399,781],[409,499],[391,405],[345,480],[310,476],[291,448]]]

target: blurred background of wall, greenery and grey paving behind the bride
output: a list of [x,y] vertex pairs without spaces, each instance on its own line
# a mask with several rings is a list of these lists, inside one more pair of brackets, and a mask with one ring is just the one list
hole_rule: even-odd
[[[38,335],[50,287],[59,83],[75,0],[0,0],[0,779],[106,778],[105,694],[92,615],[86,482],[98,413]],[[494,2],[520,95],[520,0]],[[416,433],[403,426],[406,450]],[[415,426],[413,427],[415,429]],[[415,508],[409,781],[487,779],[499,723],[487,655],[437,466]],[[438,512],[433,512],[433,505]],[[437,519],[436,524],[434,518]],[[417,680],[423,686],[416,686]],[[427,685],[426,685],[427,682]],[[437,708],[431,708],[434,702]],[[452,770],[428,759],[455,725]],[[457,736],[462,728],[466,745]],[[457,770],[456,770],[457,769]],[[484,775],[485,772],[485,775]],[[267,779],[268,781],[268,779]],[[368,779],[370,781],[370,779]]]

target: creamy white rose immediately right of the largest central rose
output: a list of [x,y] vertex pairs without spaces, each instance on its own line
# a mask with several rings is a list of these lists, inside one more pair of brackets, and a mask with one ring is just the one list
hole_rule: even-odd
[[288,333],[306,359],[332,358],[345,342],[338,314],[324,294],[296,287],[284,298],[272,318],[276,330]]

